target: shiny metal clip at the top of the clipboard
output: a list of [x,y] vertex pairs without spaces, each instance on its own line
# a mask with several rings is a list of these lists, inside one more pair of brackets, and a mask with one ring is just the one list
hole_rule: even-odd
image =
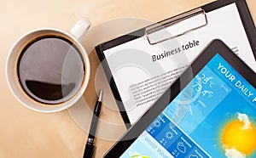
[[154,45],[183,36],[208,24],[207,14],[202,8],[195,8],[184,14],[160,21],[145,28],[149,44]]

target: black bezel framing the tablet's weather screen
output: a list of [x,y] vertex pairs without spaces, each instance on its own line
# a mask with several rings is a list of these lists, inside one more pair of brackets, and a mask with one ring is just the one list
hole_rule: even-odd
[[228,48],[224,42],[213,40],[206,49],[202,51],[200,56],[195,59],[189,68],[177,79],[176,82],[158,99],[147,112],[135,123],[120,140],[114,144],[111,150],[105,157],[119,157],[125,150],[143,133],[143,131],[160,115],[168,104],[172,102],[184,87],[203,69],[205,65],[216,55],[222,56],[247,82],[250,82],[253,87],[256,87],[256,74],[245,63],[239,59]]

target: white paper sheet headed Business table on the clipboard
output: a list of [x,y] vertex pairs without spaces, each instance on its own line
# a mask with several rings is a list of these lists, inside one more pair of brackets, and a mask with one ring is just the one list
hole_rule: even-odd
[[[207,20],[207,26],[157,45],[150,45],[146,37],[140,37],[104,51],[131,124],[213,39],[224,41],[256,71],[236,3],[207,13]],[[165,31],[172,35],[171,28]]]

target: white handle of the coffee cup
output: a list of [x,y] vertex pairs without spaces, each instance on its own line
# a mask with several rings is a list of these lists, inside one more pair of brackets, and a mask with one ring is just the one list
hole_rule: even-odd
[[90,20],[88,20],[87,18],[82,18],[73,26],[73,28],[69,32],[73,35],[73,37],[76,37],[79,42],[81,42],[89,27]]

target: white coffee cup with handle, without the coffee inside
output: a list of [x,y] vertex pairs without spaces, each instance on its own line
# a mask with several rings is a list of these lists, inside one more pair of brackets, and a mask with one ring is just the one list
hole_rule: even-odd
[[[90,80],[90,61],[88,58],[88,54],[86,53],[83,45],[81,44],[81,40],[84,37],[86,31],[88,31],[89,27],[90,21],[86,18],[82,18],[73,26],[73,28],[69,32],[61,31],[55,28],[41,28],[27,32],[23,37],[20,37],[20,39],[15,42],[14,46],[9,51],[5,71],[9,88],[15,98],[18,99],[21,104],[25,105],[31,110],[50,113],[66,110],[67,108],[75,104],[83,96],[83,93]],[[26,44],[28,42],[31,42],[34,38],[41,36],[42,34],[48,33],[57,34],[61,37],[67,37],[70,41],[72,41],[76,45],[76,47],[79,48],[79,53],[82,56],[81,58],[83,59],[85,67],[84,80],[78,92],[74,93],[73,96],[67,101],[59,104],[45,104],[36,99],[32,99],[32,97],[29,96],[25,92],[24,88],[20,85],[17,71],[20,54],[22,50],[26,47]]]

